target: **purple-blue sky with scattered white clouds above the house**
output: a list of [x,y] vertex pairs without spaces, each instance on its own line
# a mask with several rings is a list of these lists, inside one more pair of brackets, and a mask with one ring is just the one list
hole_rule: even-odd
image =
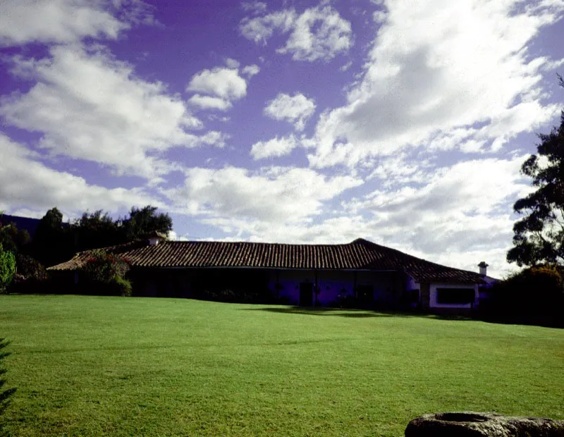
[[503,277],[564,0],[0,0],[0,210]]

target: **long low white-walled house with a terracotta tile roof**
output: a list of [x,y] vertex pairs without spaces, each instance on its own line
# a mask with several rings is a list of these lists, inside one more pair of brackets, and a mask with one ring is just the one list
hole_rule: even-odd
[[[347,297],[367,307],[472,309],[484,274],[442,266],[359,238],[348,244],[167,241],[106,248],[131,266],[138,296],[193,297],[205,288],[269,291],[289,304],[336,305]],[[49,268],[75,272],[90,258],[80,252]],[[78,273],[75,280],[78,281]]]

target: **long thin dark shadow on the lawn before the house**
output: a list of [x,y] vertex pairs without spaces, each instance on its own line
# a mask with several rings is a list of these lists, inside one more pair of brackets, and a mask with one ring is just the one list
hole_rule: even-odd
[[423,314],[416,312],[392,312],[392,311],[373,311],[370,309],[348,309],[348,308],[329,308],[329,307],[259,307],[242,308],[241,311],[264,311],[275,312],[278,314],[303,314],[307,316],[338,316],[356,319],[367,319],[369,317],[425,317],[427,319],[440,320],[472,320],[463,316],[443,316],[439,314]]

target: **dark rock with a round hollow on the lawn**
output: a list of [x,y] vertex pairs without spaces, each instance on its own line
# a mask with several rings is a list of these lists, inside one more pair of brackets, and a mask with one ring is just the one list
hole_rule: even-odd
[[423,414],[410,421],[405,437],[564,437],[564,421],[479,412]]

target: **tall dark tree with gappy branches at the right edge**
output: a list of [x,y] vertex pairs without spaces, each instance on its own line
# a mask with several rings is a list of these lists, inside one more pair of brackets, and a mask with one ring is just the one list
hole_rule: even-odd
[[[563,78],[558,78],[564,87]],[[538,136],[538,154],[521,167],[537,190],[513,206],[517,214],[526,214],[513,226],[514,247],[507,254],[518,266],[564,264],[564,110],[560,126]]]

